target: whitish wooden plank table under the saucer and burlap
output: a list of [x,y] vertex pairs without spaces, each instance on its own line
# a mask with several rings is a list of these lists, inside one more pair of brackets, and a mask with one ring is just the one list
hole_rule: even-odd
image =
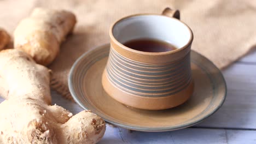
[[[130,131],[107,125],[103,143],[256,143],[256,50],[223,70],[228,95],[223,106],[194,127],[162,133]],[[53,104],[82,109],[52,91]],[[3,99],[0,98],[0,101]]]

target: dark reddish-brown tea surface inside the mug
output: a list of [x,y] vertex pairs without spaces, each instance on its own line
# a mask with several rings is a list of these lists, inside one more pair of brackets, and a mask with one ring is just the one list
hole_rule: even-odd
[[135,39],[127,41],[124,45],[133,50],[144,52],[166,52],[177,49],[170,43],[156,39]]

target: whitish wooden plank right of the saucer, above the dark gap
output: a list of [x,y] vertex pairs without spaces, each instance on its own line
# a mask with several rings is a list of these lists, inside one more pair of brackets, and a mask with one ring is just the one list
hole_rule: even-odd
[[198,127],[256,129],[256,65],[235,63],[223,71],[228,94],[223,106]]

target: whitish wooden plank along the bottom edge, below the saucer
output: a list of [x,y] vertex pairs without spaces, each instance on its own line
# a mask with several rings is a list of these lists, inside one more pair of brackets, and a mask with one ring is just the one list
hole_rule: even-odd
[[98,144],[121,143],[168,143],[168,144],[238,144],[256,143],[256,131],[254,130],[226,130],[226,129],[202,129],[187,128],[161,133],[147,133],[141,131],[129,131],[122,128],[107,125],[107,131]]

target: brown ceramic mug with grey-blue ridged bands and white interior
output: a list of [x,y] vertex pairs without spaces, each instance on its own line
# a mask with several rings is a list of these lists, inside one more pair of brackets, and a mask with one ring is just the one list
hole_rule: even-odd
[[[115,22],[109,31],[110,53],[102,86],[124,105],[163,110],[181,105],[193,93],[190,47],[193,33],[179,21],[179,11],[138,14]],[[167,52],[144,52],[123,45],[135,39],[157,39],[176,46]]]

